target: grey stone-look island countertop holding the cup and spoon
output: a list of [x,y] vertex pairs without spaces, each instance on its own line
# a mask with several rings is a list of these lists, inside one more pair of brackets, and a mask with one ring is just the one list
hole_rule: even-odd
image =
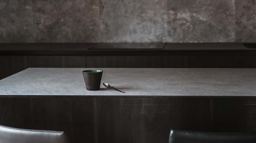
[[[86,90],[82,71],[88,69],[103,70],[97,91]],[[0,80],[0,95],[256,96],[256,69],[29,68]]]

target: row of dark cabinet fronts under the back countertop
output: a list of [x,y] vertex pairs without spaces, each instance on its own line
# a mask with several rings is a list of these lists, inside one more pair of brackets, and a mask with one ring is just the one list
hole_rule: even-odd
[[0,56],[0,79],[27,68],[256,68],[256,56]]

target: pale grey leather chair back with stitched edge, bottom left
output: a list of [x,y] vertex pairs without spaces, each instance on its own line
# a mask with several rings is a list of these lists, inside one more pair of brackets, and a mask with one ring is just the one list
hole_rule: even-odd
[[0,143],[71,143],[64,132],[18,129],[0,125]]

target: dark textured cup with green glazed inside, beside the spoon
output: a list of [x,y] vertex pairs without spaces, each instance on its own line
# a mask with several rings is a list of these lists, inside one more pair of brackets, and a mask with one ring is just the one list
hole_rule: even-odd
[[101,70],[83,71],[84,82],[87,90],[99,90],[102,73],[103,71]]

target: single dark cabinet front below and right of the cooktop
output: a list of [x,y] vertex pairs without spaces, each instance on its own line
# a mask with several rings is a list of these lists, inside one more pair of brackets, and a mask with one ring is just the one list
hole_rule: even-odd
[[241,68],[241,56],[164,56],[164,68]]

